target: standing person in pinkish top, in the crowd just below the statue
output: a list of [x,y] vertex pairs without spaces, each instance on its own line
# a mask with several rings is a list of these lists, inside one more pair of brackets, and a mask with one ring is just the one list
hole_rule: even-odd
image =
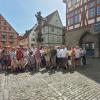
[[41,64],[41,53],[39,47],[35,51],[36,69],[39,70]]

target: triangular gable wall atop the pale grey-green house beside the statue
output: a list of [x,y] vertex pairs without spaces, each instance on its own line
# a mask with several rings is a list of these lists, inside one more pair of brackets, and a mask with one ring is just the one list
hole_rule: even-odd
[[63,27],[58,11],[55,12],[48,24]]

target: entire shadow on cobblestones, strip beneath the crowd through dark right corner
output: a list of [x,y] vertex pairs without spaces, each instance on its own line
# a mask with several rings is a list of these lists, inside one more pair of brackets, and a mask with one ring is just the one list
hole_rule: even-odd
[[30,72],[31,75],[34,75],[38,72],[41,74],[48,73],[49,75],[55,74],[56,72],[62,72],[62,74],[71,73],[73,74],[75,71],[79,72],[80,74],[86,76],[89,79],[92,79],[100,84],[100,58],[88,58],[87,59],[87,65],[77,67],[76,69],[46,69],[41,68],[40,71],[33,71],[33,70],[27,70],[27,71],[18,71],[18,72],[11,72],[11,71],[0,71],[0,74],[4,73],[6,76],[10,74],[17,75],[19,73],[23,72]]

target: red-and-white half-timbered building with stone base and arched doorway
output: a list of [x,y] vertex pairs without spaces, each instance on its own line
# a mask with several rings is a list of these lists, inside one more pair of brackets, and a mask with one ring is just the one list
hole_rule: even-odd
[[66,44],[80,45],[87,56],[100,56],[100,0],[63,0],[66,4]]

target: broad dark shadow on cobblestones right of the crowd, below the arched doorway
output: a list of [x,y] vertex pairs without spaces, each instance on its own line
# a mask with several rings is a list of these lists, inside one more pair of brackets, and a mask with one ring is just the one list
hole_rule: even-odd
[[100,59],[88,58],[87,65],[77,68],[77,71],[100,84]]

